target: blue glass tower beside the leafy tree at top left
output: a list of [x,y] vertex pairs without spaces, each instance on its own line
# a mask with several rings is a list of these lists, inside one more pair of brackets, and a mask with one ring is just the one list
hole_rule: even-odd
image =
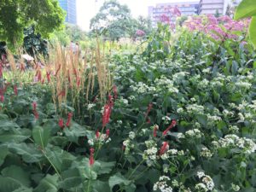
[[77,3],[76,0],[59,0],[61,8],[67,12],[66,22],[77,24]]

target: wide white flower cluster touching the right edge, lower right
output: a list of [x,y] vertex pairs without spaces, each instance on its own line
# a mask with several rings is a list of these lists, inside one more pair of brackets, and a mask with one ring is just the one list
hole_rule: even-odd
[[218,140],[220,148],[240,148],[246,154],[251,154],[256,150],[256,144],[252,139],[238,137],[234,134],[226,135]]

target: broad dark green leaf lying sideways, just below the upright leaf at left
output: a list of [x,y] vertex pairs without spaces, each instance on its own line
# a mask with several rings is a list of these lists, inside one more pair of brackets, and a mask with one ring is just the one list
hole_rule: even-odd
[[35,148],[34,144],[9,143],[7,145],[11,152],[20,154],[26,163],[35,163],[41,160],[43,154]]

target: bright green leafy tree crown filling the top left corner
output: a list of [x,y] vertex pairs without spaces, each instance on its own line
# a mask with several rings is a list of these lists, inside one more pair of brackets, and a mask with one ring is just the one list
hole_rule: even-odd
[[1,0],[0,40],[11,45],[20,44],[24,28],[32,25],[42,37],[49,38],[64,19],[57,0]]

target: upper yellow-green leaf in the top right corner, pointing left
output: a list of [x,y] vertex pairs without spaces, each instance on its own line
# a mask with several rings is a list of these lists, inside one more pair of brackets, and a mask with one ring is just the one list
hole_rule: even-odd
[[256,1],[243,0],[236,8],[235,20],[256,15]]

